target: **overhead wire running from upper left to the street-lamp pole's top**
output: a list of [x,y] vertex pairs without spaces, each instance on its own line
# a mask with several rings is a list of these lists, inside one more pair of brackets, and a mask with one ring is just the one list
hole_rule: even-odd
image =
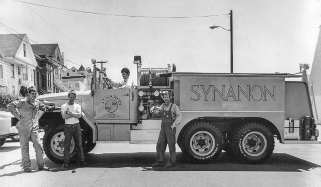
[[20,2],[24,4],[30,4],[40,7],[47,7],[51,9],[58,9],[58,10],[64,10],[64,11],[72,11],[72,12],[79,12],[79,13],[87,13],[87,14],[96,14],[96,15],[106,15],[106,16],[119,16],[119,17],[134,17],[134,18],[204,18],[204,17],[214,17],[214,16],[223,16],[223,15],[229,15],[229,14],[219,14],[219,15],[206,15],[206,16],[181,16],[181,17],[157,17],[157,16],[133,16],[133,15],[117,15],[117,14],[105,14],[105,13],[95,13],[95,12],[87,12],[87,11],[77,11],[77,10],[71,10],[71,9],[63,9],[63,8],[57,8],[57,7],[50,7],[45,5],[39,5],[34,3],[28,3],[18,0],[13,0],[15,2]]

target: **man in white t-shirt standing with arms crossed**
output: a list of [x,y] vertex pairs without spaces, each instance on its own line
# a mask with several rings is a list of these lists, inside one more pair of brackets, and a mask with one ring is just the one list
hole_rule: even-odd
[[81,106],[75,103],[76,92],[71,90],[68,93],[68,103],[61,106],[61,115],[65,119],[65,145],[64,145],[64,164],[62,168],[67,168],[70,160],[70,143],[72,137],[77,147],[78,159],[82,166],[88,166],[84,161],[84,150],[82,147],[81,128],[79,119],[81,117]]

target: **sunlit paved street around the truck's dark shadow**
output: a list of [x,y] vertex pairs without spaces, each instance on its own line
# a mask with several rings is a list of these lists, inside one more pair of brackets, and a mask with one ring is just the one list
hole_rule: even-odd
[[[1,186],[320,186],[321,144],[275,144],[274,153],[260,165],[241,164],[222,152],[209,164],[184,158],[177,146],[173,168],[150,167],[155,145],[97,144],[85,155],[89,167],[77,163],[61,169],[45,158],[50,171],[38,171],[30,142],[31,173],[21,168],[19,142],[7,139],[0,148]],[[168,150],[167,150],[168,151]],[[169,154],[167,154],[167,158]]]

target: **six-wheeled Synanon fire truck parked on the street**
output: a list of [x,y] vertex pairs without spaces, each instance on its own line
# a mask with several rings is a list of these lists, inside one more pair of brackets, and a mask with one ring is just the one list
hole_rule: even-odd
[[[85,153],[96,143],[156,144],[161,130],[160,105],[165,92],[182,112],[176,141],[182,152],[211,161],[222,150],[240,161],[262,163],[270,157],[274,140],[283,144],[319,144],[306,65],[301,74],[191,73],[176,66],[137,66],[137,87],[112,89],[106,73],[93,63],[91,90],[76,92],[82,107],[80,125]],[[301,71],[303,68],[303,71]],[[297,81],[288,78],[302,78]],[[287,80],[286,80],[287,79]],[[290,79],[291,80],[291,79]],[[45,104],[61,106],[68,93],[39,96]],[[45,129],[43,147],[49,159],[63,162],[64,119],[60,111],[39,112]],[[76,154],[72,140],[70,153]]]

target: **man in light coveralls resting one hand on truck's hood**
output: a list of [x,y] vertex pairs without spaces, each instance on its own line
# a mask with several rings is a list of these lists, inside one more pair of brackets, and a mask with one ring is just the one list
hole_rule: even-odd
[[[38,101],[37,89],[30,87],[28,89],[29,97],[19,101],[11,102],[7,105],[8,110],[19,120],[17,123],[18,133],[20,137],[22,166],[25,172],[31,172],[31,161],[29,157],[29,140],[34,144],[37,165],[39,170],[48,171],[44,161],[44,150],[41,146],[38,133],[37,113],[38,110],[52,111],[60,109],[60,107],[47,106]],[[18,109],[18,111],[16,110]]]

